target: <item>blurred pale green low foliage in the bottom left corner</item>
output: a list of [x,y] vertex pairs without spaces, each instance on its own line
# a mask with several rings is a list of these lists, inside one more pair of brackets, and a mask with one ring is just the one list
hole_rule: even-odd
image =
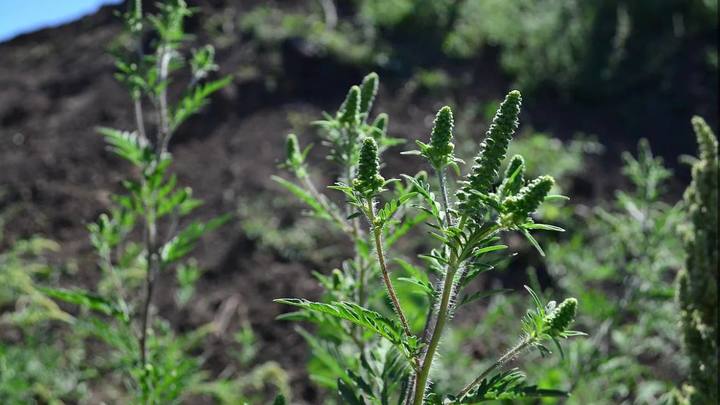
[[[7,213],[0,214],[0,243]],[[53,321],[72,323],[37,284],[55,281],[57,269],[44,257],[57,243],[32,237],[0,251],[0,402],[62,404],[84,398],[85,351],[78,339],[58,331]]]

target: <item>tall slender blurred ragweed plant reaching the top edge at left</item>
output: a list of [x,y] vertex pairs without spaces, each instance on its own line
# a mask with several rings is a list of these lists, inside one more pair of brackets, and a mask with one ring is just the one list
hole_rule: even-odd
[[[176,403],[206,378],[201,358],[188,350],[210,327],[175,333],[154,314],[153,298],[161,273],[176,270],[178,301],[187,301],[199,270],[185,259],[205,232],[228,220],[223,216],[188,223],[187,216],[202,203],[189,188],[178,185],[168,146],[178,127],[229,78],[208,80],[217,69],[209,46],[183,56],[188,39],[183,24],[191,15],[183,0],[163,2],[157,10],[146,15],[140,0],[132,2],[122,15],[125,32],[113,51],[116,76],[133,103],[135,129],[99,132],[136,176],[122,182],[125,192],[114,195],[110,211],[88,226],[101,281],[96,291],[45,289],[50,297],[86,311],[74,328],[111,348],[94,366],[110,370],[129,391],[126,395],[120,388],[113,395],[142,404]],[[189,82],[172,103],[168,87],[183,67],[188,68]],[[150,112],[153,120],[147,119]]]

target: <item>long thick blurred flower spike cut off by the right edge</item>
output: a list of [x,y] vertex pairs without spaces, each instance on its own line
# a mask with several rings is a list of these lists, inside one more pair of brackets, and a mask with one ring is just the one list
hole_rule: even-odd
[[678,304],[690,377],[684,403],[718,403],[718,143],[700,117],[692,118],[700,159],[685,191],[687,259],[678,275]]

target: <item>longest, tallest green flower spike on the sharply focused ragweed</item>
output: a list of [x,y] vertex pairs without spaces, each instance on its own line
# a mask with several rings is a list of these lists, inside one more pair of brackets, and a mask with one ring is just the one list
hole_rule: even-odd
[[492,191],[500,165],[505,159],[508,143],[518,127],[521,104],[522,96],[517,90],[508,93],[500,104],[485,140],[480,144],[480,152],[467,181],[457,193],[460,209],[465,213],[471,213],[478,208],[480,201],[476,193],[489,194]]

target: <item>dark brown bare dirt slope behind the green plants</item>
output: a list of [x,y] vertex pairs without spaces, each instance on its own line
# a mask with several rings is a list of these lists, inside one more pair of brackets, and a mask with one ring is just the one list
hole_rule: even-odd
[[[198,19],[222,3],[203,2],[205,14]],[[3,243],[33,234],[57,240],[62,246],[57,261],[74,260],[81,269],[81,276],[68,283],[82,283],[82,275],[94,271],[85,225],[108,208],[110,193],[119,189],[127,172],[127,166],[105,150],[94,131],[97,126],[129,128],[132,123],[130,102],[113,78],[112,59],[106,52],[119,30],[111,10],[105,8],[74,23],[0,44],[0,212],[12,208],[17,213],[7,224]],[[236,212],[239,201],[279,192],[269,177],[277,172],[283,138],[291,129],[289,114],[302,112],[310,120],[322,110],[332,111],[347,87],[367,73],[305,55],[291,42],[281,50],[282,75],[277,86],[269,88],[262,75],[243,79],[240,74],[248,66],[262,72],[267,63],[262,54],[251,50],[248,40],[240,36],[219,50],[220,73],[236,80],[180,130],[171,147],[181,182],[207,202],[198,210],[201,217]],[[392,132],[424,137],[441,102],[492,100],[506,91],[509,81],[493,56],[484,58],[448,66],[453,74],[471,78],[467,87],[441,96],[412,94],[411,104],[400,96],[404,78],[390,75],[381,89],[377,111],[390,113]],[[683,95],[689,102],[676,106],[672,116],[664,104],[657,103],[645,106],[644,119],[634,120],[623,109],[628,95],[620,94],[616,102],[598,106],[546,94],[537,98],[541,101],[527,102],[523,122],[563,138],[575,131],[596,134],[610,146],[609,158],[598,166],[604,168],[602,173],[589,176],[601,182],[603,177],[610,178],[607,185],[617,178],[613,167],[619,159],[613,151],[634,147],[641,136],[650,137],[671,164],[679,154],[692,152],[685,124],[691,113],[705,113],[717,123],[717,92],[702,88],[698,82],[702,78],[692,67],[676,78],[688,83],[691,94]],[[481,133],[478,129],[473,136]],[[396,172],[399,164],[391,161],[388,171]],[[293,263],[258,249],[238,223],[207,236],[196,256],[208,269],[200,281],[199,298],[188,309],[174,313],[167,298],[169,288],[161,287],[157,294],[161,313],[180,328],[199,325],[211,320],[229,297],[239,297],[242,312],[263,344],[260,360],[279,361],[292,374],[295,394],[316,401],[317,393],[303,374],[304,343],[292,326],[274,321],[281,308],[271,299],[317,296],[310,270],[322,264]],[[221,345],[222,341],[211,357],[210,364],[217,369],[224,361]]]

